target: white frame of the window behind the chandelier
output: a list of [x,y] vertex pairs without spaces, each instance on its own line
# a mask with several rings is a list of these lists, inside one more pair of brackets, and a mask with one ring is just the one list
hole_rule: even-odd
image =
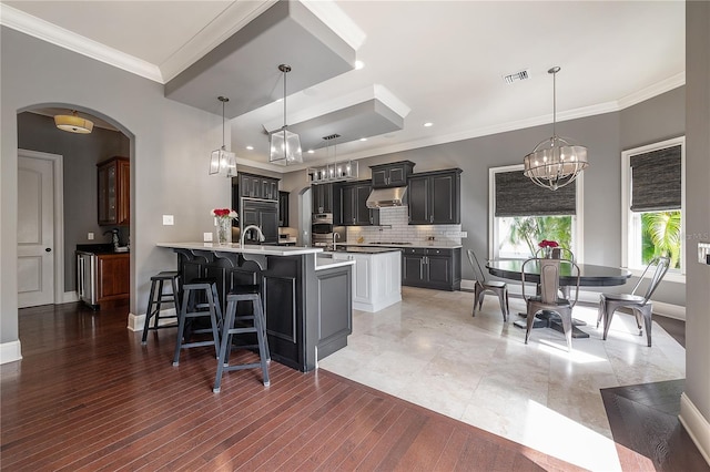
[[[496,225],[496,174],[499,172],[524,171],[523,164],[505,165],[488,168],[488,258],[497,259],[498,248],[496,242],[500,236],[498,225]],[[584,263],[585,257],[585,173],[576,178],[575,206],[576,215],[572,217],[572,240],[575,247],[570,248],[575,254],[576,261]],[[552,191],[550,191],[552,192]]]

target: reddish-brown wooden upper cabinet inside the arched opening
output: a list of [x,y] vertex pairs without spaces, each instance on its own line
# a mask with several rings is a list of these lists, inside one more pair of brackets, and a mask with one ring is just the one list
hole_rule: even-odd
[[99,225],[128,226],[131,223],[131,162],[111,157],[97,164],[99,181]]

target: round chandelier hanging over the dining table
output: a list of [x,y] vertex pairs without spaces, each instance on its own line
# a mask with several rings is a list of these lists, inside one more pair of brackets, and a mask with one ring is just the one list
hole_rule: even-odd
[[569,138],[557,136],[557,90],[556,76],[560,68],[554,66],[552,74],[552,137],[540,142],[524,158],[524,175],[540,187],[556,191],[571,183],[589,166],[587,147],[570,143]]

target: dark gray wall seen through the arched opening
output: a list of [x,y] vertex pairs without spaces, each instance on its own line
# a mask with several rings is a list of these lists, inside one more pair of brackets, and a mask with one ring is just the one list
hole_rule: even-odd
[[[18,146],[63,156],[64,167],[64,291],[75,289],[77,244],[111,243],[111,235],[97,223],[97,163],[113,156],[129,157],[129,138],[116,131],[94,126],[91,134],[67,133],[54,120],[36,113],[18,115]],[[121,244],[128,242],[129,228],[121,228]],[[94,233],[89,240],[87,234]]]

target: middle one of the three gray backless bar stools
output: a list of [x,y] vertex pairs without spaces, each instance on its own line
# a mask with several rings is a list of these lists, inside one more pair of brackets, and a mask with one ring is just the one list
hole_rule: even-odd
[[[217,295],[217,284],[213,278],[195,278],[182,287],[182,304],[178,322],[178,340],[175,341],[175,355],[173,356],[173,366],[180,363],[180,350],[196,348],[200,346],[214,346],[215,356],[220,356],[220,324],[222,322],[222,309],[220,308],[220,296]],[[201,296],[206,301],[197,302],[196,298]],[[210,328],[191,329],[191,335],[212,334],[212,339],[186,342],[185,325],[187,320],[191,322],[195,318],[210,318]]]

